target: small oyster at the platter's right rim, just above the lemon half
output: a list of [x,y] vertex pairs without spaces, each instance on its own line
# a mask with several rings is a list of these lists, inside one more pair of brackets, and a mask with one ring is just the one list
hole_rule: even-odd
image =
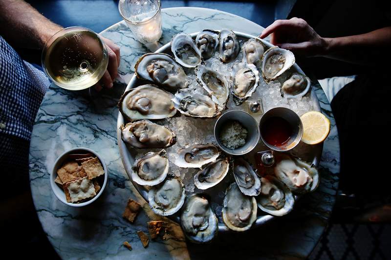
[[307,94],[311,87],[311,80],[299,73],[293,73],[282,84],[281,91],[287,99],[301,98]]

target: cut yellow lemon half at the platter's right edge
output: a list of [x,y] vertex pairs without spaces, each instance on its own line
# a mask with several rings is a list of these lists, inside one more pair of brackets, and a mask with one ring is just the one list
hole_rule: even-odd
[[320,112],[310,111],[300,117],[303,122],[302,141],[317,144],[326,140],[330,133],[330,120]]

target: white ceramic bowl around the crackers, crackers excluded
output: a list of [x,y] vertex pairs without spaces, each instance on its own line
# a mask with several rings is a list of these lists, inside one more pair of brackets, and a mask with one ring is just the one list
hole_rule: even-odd
[[[54,182],[54,180],[56,180],[58,168],[60,168],[60,166],[63,164],[63,162],[67,159],[68,154],[83,154],[83,153],[94,154],[101,161],[103,169],[105,171],[104,181],[103,181],[103,184],[101,185],[101,189],[99,190],[98,194],[95,197],[93,197],[91,200],[87,200],[87,201],[81,202],[81,203],[70,203],[70,202],[66,201],[64,190],[62,188],[60,188],[56,184],[56,182]],[[99,198],[99,196],[101,196],[101,194],[103,193],[103,190],[106,187],[108,175],[109,174],[108,174],[108,171],[107,171],[106,163],[102,159],[101,156],[99,156],[96,152],[92,151],[91,149],[88,149],[88,148],[85,148],[85,147],[76,147],[76,148],[72,148],[70,150],[65,151],[54,162],[53,169],[52,169],[52,171],[50,173],[50,186],[52,187],[52,191],[53,191],[54,195],[56,195],[57,199],[59,199],[64,204],[66,204],[68,206],[72,206],[72,207],[83,207],[83,206],[86,206],[88,204],[91,204],[92,202],[97,200]]]

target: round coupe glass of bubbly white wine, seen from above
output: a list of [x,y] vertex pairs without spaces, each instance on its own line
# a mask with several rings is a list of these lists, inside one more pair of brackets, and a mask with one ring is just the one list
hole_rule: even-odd
[[68,27],[57,32],[43,48],[42,66],[56,85],[82,90],[98,82],[109,59],[106,45],[93,31]]

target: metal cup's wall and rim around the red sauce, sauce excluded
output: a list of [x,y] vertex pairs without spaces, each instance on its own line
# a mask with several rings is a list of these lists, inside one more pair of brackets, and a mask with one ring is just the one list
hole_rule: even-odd
[[[286,120],[292,127],[292,135],[291,138],[286,144],[282,146],[275,146],[265,141],[265,139],[262,137],[262,125],[263,123],[273,117],[278,117]],[[300,140],[302,140],[303,137],[303,123],[302,120],[300,120],[300,117],[292,110],[285,108],[285,107],[275,107],[267,111],[263,116],[261,117],[260,121],[260,132],[261,132],[261,140],[263,143],[269,147],[272,150],[279,151],[279,152],[285,152],[289,151],[296,147],[296,145],[299,144]]]

